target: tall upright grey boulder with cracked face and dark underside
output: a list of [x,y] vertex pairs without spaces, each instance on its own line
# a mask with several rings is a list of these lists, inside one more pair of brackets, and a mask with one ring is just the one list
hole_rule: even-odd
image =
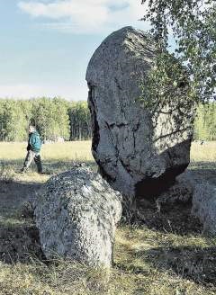
[[155,122],[140,106],[140,85],[155,57],[152,40],[125,27],[103,41],[87,67],[93,155],[103,177],[127,196],[158,195],[190,161],[193,111],[174,97]]

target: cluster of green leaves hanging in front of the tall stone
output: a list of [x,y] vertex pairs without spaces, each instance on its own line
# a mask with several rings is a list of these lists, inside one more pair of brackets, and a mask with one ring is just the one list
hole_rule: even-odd
[[[171,110],[178,106],[180,111],[181,107],[188,105],[191,90],[185,68],[180,65],[173,54],[167,51],[161,53],[155,60],[154,67],[148,72],[140,89],[139,101],[142,106],[149,109],[152,116],[163,110],[166,105]],[[187,96],[187,101],[185,101],[185,96]]]

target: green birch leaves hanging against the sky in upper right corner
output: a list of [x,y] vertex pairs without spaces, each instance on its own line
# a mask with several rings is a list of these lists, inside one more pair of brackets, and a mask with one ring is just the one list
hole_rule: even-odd
[[[142,0],[142,4],[147,0]],[[216,3],[213,0],[158,0],[148,1],[148,11],[143,20],[152,25],[153,34],[158,50],[156,62],[157,73],[152,79],[161,85],[157,92],[164,87],[170,60],[166,52],[169,49],[168,38],[173,35],[176,43],[175,58],[179,65],[184,65],[190,87],[187,98],[191,102],[205,103],[215,95],[216,78]],[[167,67],[164,67],[166,65]],[[172,69],[175,72],[175,68]],[[178,83],[178,71],[176,72]],[[181,78],[181,76],[179,76]],[[150,94],[152,100],[156,94]],[[155,95],[155,96],[154,96]],[[161,97],[166,100],[166,94]]]

